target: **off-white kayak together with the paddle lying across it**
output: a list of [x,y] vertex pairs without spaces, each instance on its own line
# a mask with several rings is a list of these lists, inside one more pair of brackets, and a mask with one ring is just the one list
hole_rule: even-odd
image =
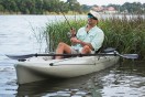
[[[136,60],[138,54],[120,54],[115,48],[108,47],[94,54],[5,54],[18,60],[14,65],[18,84],[26,84],[52,78],[71,78],[99,72],[118,63],[119,58]],[[54,56],[65,56],[54,60]]]

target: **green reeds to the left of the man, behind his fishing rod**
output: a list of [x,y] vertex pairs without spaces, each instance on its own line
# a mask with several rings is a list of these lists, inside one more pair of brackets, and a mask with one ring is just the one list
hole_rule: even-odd
[[[80,26],[86,24],[86,21],[80,19],[78,21],[68,20],[69,24],[78,30]],[[55,23],[47,24],[45,34],[46,34],[46,43],[48,46],[49,52],[54,52],[58,45],[59,42],[65,42],[67,44],[70,44],[70,40],[67,36],[67,33],[69,32],[70,26],[66,21],[58,21]]]

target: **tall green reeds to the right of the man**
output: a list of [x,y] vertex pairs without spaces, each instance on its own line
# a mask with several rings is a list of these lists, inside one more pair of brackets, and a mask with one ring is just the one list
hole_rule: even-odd
[[145,18],[143,15],[109,18],[100,28],[105,33],[104,46],[113,46],[121,53],[137,53],[145,60]]

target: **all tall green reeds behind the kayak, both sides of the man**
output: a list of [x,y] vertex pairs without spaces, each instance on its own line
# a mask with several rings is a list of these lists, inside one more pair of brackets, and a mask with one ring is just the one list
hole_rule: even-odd
[[[86,20],[69,20],[71,26],[78,30],[86,24]],[[115,47],[120,53],[137,53],[145,60],[145,18],[142,15],[122,18],[109,18],[100,21],[99,26],[104,31],[103,47]],[[51,23],[45,31],[49,51],[55,51],[57,44],[66,42],[70,44],[67,32],[70,28],[67,22]]]

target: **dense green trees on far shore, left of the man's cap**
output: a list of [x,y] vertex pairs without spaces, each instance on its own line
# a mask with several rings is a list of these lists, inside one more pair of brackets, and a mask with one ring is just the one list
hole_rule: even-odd
[[0,13],[45,14],[75,11],[83,12],[77,0],[0,0]]

